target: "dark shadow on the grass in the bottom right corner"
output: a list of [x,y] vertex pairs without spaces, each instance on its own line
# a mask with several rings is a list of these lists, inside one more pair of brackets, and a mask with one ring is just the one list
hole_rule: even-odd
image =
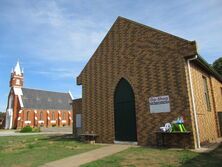
[[220,146],[209,152],[209,153],[201,153],[197,157],[185,161],[181,167],[216,167],[222,166],[222,144]]

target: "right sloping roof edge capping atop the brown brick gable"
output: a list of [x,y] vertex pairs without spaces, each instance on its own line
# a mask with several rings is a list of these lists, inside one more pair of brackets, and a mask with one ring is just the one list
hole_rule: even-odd
[[189,42],[189,43],[195,42],[195,41],[190,41],[190,40],[181,38],[181,37],[179,37],[179,36],[173,35],[173,34],[171,34],[171,33],[168,33],[168,32],[165,32],[165,31],[162,31],[162,30],[153,28],[153,27],[148,26],[148,25],[146,25],[146,24],[139,23],[139,22],[136,22],[136,21],[134,21],[134,20],[130,20],[130,19],[125,18],[125,17],[122,17],[122,16],[118,16],[116,20],[119,20],[119,19],[123,19],[123,20],[129,21],[129,22],[131,22],[131,23],[134,23],[134,24],[143,26],[143,27],[145,27],[145,28],[149,28],[149,29],[152,29],[152,30],[154,30],[154,31],[158,31],[158,32],[163,33],[163,34],[170,35],[170,36],[172,36],[172,37],[174,37],[174,38],[177,38],[177,39],[179,39],[179,40],[183,40],[183,41],[185,41],[185,42]]

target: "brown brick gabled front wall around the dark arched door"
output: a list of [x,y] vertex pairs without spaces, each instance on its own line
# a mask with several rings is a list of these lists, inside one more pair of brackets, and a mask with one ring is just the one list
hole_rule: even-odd
[[[135,94],[139,145],[156,144],[155,131],[178,116],[192,131],[184,57],[195,54],[192,42],[118,19],[77,79],[83,130],[97,133],[99,142],[115,140],[114,91],[123,77]],[[171,112],[151,114],[149,97],[161,95],[169,95]],[[193,146],[192,139],[188,145]]]

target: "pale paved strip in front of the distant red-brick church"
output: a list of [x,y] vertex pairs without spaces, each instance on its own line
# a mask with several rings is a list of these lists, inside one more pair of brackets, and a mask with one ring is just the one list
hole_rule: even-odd
[[19,133],[15,130],[1,130],[0,131],[0,137],[1,136],[25,136],[25,135],[56,135],[56,134],[72,134],[72,132],[39,132],[39,133]]

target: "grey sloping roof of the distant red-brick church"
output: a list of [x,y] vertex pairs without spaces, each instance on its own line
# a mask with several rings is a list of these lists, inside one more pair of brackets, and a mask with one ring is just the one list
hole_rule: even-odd
[[71,110],[69,93],[21,88],[24,108],[47,110]]

